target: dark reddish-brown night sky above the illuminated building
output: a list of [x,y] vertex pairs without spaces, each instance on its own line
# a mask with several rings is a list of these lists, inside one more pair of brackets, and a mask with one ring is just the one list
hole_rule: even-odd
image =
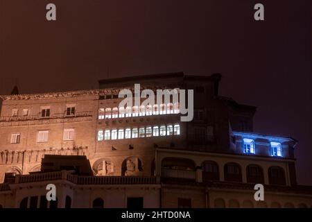
[[312,185],[310,0],[0,0],[0,94],[171,71],[223,74],[220,94],[258,107],[255,131],[300,141],[298,180]]

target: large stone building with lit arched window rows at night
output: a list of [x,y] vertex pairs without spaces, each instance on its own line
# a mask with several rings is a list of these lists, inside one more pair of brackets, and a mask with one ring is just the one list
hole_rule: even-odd
[[[2,207],[312,207],[297,185],[291,137],[253,132],[256,108],[220,96],[220,74],[99,81],[99,89],[1,96]],[[180,103],[119,107],[121,89],[193,89],[193,120]],[[42,171],[44,155],[85,156]],[[46,167],[46,166],[45,166]],[[40,172],[41,171],[41,172]],[[76,173],[75,173],[76,172]],[[28,175],[29,174],[29,175]],[[58,202],[46,201],[46,185]],[[263,184],[265,200],[254,200]]]

